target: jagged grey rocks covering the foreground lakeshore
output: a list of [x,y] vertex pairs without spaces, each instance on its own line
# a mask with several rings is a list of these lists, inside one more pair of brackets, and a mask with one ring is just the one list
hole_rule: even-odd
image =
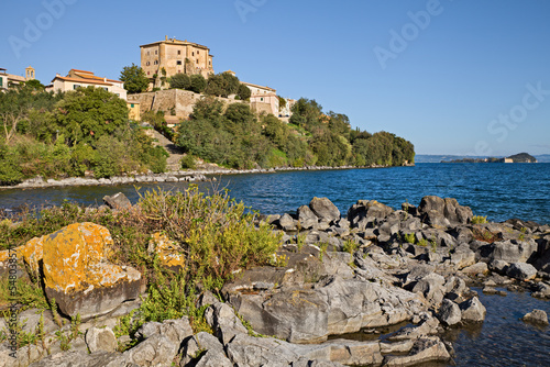
[[[107,198],[106,203],[129,205],[120,196],[114,199]],[[221,289],[221,300],[208,291],[200,294],[197,307],[206,308],[212,334],[194,334],[188,318],[150,322],[133,336],[139,342],[135,346],[117,352],[118,343],[131,337],[117,337],[113,329],[121,315],[140,305],[138,294],[143,291],[140,275],[132,273],[138,270],[128,267],[118,274],[132,276],[120,276],[123,280],[109,286],[117,289],[116,296],[101,291],[100,303],[108,303],[105,309],[86,307],[98,302],[95,289],[82,291],[77,302],[74,293],[55,294],[64,313],[86,311],[82,334],[70,351],[63,351],[59,340],[53,338],[47,345],[21,348],[13,359],[4,343],[0,366],[452,363],[453,347],[443,336],[446,331],[483,323],[486,314],[470,287],[481,286],[487,293],[498,292],[496,287],[521,289],[550,299],[550,226],[520,220],[486,223],[454,199],[425,197],[418,207],[404,203],[402,210],[359,200],[342,215],[329,199],[314,198],[295,213],[261,215],[258,221],[284,232],[275,255],[279,266],[242,270]],[[57,262],[29,251],[37,248],[36,242],[25,246],[19,253],[31,268]],[[70,258],[70,251],[65,255]],[[543,311],[525,313],[525,322],[548,325]],[[28,318],[28,330],[38,322],[33,310],[20,316]],[[58,333],[54,315],[45,312],[44,318],[47,334]],[[382,337],[381,331],[387,327],[397,331]],[[67,324],[62,331],[69,329]],[[346,338],[356,332],[372,337]]]

